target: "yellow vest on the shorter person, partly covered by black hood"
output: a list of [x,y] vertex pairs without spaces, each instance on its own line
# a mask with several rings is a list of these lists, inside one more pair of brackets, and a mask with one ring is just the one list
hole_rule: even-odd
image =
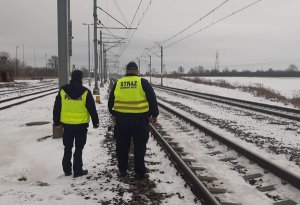
[[60,121],[65,124],[78,125],[90,122],[90,114],[85,107],[88,91],[78,99],[71,99],[62,89]]

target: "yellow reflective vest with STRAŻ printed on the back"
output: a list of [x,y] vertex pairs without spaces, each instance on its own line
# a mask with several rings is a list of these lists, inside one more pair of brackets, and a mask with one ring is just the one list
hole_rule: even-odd
[[121,113],[145,113],[149,103],[142,87],[142,78],[126,76],[117,81],[113,110]]

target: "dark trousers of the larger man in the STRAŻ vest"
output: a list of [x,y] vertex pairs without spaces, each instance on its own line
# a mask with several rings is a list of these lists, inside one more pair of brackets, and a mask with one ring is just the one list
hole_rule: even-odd
[[145,116],[117,117],[115,125],[116,151],[119,171],[128,169],[128,153],[131,139],[134,143],[134,170],[144,174],[146,144],[149,139],[149,120]]

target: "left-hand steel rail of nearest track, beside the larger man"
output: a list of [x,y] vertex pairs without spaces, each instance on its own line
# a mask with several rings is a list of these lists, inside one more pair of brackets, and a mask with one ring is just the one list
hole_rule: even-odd
[[169,143],[160,135],[160,133],[150,124],[150,130],[152,135],[161,144],[161,146],[170,155],[172,160],[176,163],[180,171],[183,172],[184,177],[190,183],[192,192],[196,197],[204,199],[206,204],[220,205],[220,202],[210,193],[206,186],[198,179],[196,174],[188,167],[188,165],[181,159],[176,151],[169,145]]

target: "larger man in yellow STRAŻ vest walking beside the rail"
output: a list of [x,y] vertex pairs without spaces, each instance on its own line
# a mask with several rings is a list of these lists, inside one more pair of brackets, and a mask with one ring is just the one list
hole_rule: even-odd
[[115,122],[116,152],[119,176],[125,177],[128,169],[128,152],[131,138],[134,143],[135,179],[145,179],[144,157],[149,139],[149,122],[156,123],[159,114],[155,93],[146,79],[138,76],[138,66],[130,62],[126,76],[113,86],[108,108]]

